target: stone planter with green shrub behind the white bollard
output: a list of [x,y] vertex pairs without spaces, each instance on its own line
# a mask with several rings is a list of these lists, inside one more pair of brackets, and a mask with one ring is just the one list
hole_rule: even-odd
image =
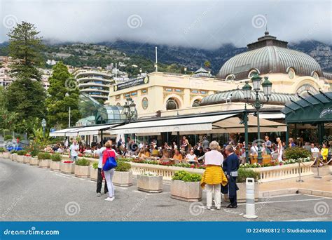
[[[253,171],[252,169],[247,168],[239,168],[237,171],[236,185],[239,187],[237,190],[237,202],[245,202],[246,201],[246,179],[254,178],[255,180],[255,201],[258,201],[258,180],[259,173]],[[225,201],[229,201],[228,194],[223,194],[223,198]]]

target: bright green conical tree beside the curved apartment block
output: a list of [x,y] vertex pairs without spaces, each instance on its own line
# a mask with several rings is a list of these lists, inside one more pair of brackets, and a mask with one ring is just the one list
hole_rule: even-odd
[[71,108],[71,122],[80,119],[78,110],[79,91],[76,80],[69,74],[62,62],[57,62],[50,76],[50,87],[46,105],[48,109],[48,126],[66,128],[69,121],[69,107]]

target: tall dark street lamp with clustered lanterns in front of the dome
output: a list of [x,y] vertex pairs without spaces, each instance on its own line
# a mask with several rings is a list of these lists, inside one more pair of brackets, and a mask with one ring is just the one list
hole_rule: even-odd
[[[257,142],[257,147],[258,147],[257,160],[259,163],[261,163],[263,160],[262,146],[261,146],[261,141],[259,140],[261,138],[261,129],[260,129],[260,124],[259,124],[259,109],[261,109],[261,107],[263,107],[264,102],[261,102],[261,100],[259,100],[258,93],[261,90],[261,86],[262,86],[264,97],[267,99],[266,102],[268,102],[268,100],[270,99],[271,90],[272,90],[272,83],[268,80],[268,76],[264,77],[264,81],[262,84],[261,84],[261,79],[262,79],[261,76],[259,76],[257,72],[255,72],[254,75],[251,77],[252,85],[254,86],[254,93],[256,95],[256,99],[255,99],[254,103],[252,104],[252,107],[254,107],[256,109],[256,114],[257,114],[257,136],[258,136],[258,138],[257,138],[257,140],[258,140],[258,142]],[[246,81],[246,84],[242,87],[242,91],[244,93],[244,100],[246,100],[246,105],[244,107],[245,115],[247,113],[247,102],[249,102],[249,100],[251,99],[251,89],[252,88],[249,85],[249,81]],[[244,121],[244,122],[247,123],[247,121]],[[247,140],[246,140],[246,145],[247,145]],[[247,154],[247,147],[246,147],[246,154]],[[248,156],[248,154],[246,156]]]

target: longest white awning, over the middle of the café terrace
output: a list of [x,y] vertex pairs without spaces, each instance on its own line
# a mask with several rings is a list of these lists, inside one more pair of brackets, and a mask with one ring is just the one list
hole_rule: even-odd
[[112,133],[165,133],[184,131],[210,131],[216,121],[227,119],[236,114],[223,114],[216,116],[196,116],[191,118],[163,119],[155,121],[140,121],[112,128]]

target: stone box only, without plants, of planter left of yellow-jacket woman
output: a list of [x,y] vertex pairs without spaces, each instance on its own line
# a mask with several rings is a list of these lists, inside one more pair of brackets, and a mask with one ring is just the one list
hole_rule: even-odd
[[201,201],[202,187],[200,187],[200,182],[172,180],[171,197],[182,201]]

